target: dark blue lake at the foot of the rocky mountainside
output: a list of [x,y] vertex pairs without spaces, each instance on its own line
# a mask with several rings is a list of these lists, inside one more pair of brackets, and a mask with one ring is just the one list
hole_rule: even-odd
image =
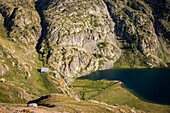
[[113,69],[97,71],[79,79],[119,80],[145,101],[170,105],[170,69]]

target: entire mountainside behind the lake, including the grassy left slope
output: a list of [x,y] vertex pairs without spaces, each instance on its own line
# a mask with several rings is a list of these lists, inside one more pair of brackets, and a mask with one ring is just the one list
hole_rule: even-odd
[[0,102],[75,96],[67,83],[96,70],[166,67],[169,14],[168,0],[0,0]]

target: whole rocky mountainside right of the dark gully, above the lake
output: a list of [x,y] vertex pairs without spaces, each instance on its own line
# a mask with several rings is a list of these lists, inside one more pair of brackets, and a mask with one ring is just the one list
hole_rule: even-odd
[[49,66],[71,77],[113,67],[166,66],[169,37],[155,31],[159,19],[150,5],[142,0],[50,2],[44,11]]

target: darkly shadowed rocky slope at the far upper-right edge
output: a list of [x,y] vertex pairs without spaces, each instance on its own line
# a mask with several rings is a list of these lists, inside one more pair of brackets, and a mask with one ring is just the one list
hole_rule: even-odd
[[154,28],[161,43],[166,62],[170,62],[170,1],[169,0],[145,0],[151,7],[154,17]]

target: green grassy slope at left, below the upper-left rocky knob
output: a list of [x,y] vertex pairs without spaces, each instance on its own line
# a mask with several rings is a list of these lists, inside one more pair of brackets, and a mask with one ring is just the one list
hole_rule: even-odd
[[25,103],[39,96],[58,92],[51,80],[52,74],[38,72],[42,62],[32,47],[12,42],[9,37],[0,34],[0,51],[3,54],[0,58],[0,65],[3,67],[0,70],[5,72],[0,78],[7,81],[0,83],[0,102]]

